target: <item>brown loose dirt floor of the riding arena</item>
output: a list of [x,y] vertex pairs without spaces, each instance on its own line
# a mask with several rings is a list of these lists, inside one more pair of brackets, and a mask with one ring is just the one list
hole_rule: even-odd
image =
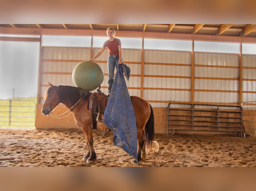
[[256,167],[256,138],[156,134],[158,153],[132,165],[113,133],[94,131],[97,161],[86,164],[83,132],[0,129],[0,167]]

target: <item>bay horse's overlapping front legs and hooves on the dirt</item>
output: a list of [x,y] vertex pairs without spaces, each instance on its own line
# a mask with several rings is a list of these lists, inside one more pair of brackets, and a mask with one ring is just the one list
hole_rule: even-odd
[[84,133],[85,133],[85,137],[86,137],[86,144],[87,144],[87,149],[88,152],[87,154],[84,156],[84,160],[86,160],[86,163],[91,163],[92,161],[96,161],[97,156],[94,150],[94,146],[93,146],[93,133],[92,133],[92,128],[91,126],[87,126],[87,127],[82,127]]

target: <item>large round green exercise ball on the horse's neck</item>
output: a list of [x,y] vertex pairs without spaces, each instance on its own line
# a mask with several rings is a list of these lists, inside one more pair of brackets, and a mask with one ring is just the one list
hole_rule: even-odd
[[73,70],[74,84],[87,91],[95,90],[104,80],[104,72],[100,65],[93,61],[79,63]]

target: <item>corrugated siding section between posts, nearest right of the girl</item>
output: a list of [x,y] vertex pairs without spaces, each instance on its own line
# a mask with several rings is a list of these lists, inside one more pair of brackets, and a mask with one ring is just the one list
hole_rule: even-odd
[[[184,91],[184,89],[190,90],[191,86],[191,66],[187,66],[191,65],[191,53],[145,50],[144,62],[144,75],[150,76],[144,77],[143,88],[146,90],[143,91],[143,95],[146,100],[152,101],[153,107],[166,107],[168,101],[190,100],[190,91]],[[171,78],[171,76],[173,77]],[[175,76],[181,78],[175,78]],[[182,90],[154,90],[158,88]],[[166,101],[166,103],[161,101]]]

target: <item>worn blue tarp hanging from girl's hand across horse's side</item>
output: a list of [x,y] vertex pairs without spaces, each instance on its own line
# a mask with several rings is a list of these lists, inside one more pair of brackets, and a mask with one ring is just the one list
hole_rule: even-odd
[[102,121],[113,131],[113,144],[138,162],[136,118],[123,73],[119,65]]

